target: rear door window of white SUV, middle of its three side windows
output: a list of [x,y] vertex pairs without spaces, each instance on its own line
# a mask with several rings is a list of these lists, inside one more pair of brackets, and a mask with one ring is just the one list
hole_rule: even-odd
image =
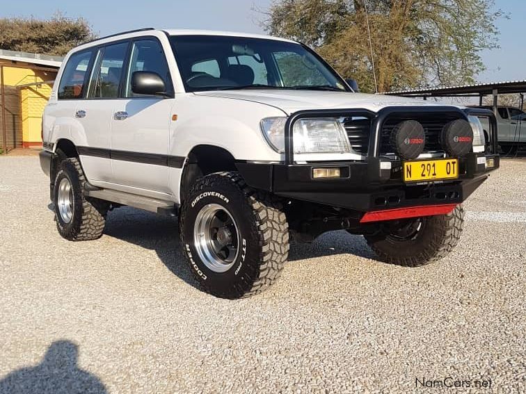
[[119,97],[120,77],[128,49],[127,42],[99,49],[97,62],[91,74],[88,97],[115,99]]

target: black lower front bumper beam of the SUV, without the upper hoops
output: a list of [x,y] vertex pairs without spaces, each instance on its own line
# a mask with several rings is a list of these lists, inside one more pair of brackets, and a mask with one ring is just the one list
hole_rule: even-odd
[[[493,159],[494,166],[486,167]],[[381,170],[381,160],[333,162],[323,164],[237,163],[249,186],[290,199],[370,212],[409,206],[461,204],[489,172],[500,166],[498,155],[470,154],[459,159],[459,179],[427,183],[404,183],[401,162],[393,161],[390,170]],[[338,167],[345,178],[313,179],[314,168]]]

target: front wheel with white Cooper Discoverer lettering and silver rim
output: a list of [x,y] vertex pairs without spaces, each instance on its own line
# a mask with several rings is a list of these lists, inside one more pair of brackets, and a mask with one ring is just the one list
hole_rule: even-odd
[[184,197],[182,248],[207,293],[237,299],[274,284],[289,254],[278,198],[250,188],[237,172],[202,177]]

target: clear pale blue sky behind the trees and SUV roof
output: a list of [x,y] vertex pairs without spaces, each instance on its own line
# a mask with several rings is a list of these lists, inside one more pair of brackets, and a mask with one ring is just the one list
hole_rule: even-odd
[[[60,10],[68,17],[84,17],[100,35],[138,27],[206,28],[261,33],[257,23],[261,15],[252,8],[267,8],[271,0],[149,0],[135,3],[123,0],[28,0],[3,1],[2,17],[29,16],[47,18]],[[497,8],[511,19],[500,19],[501,49],[484,51],[488,68],[479,81],[526,79],[524,18],[525,0],[497,0]]]

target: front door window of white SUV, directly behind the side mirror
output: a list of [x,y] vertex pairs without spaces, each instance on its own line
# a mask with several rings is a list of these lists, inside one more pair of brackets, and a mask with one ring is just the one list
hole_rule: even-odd
[[161,44],[157,40],[136,41],[131,49],[131,58],[126,81],[125,97],[141,97],[131,91],[131,76],[136,71],[149,71],[159,74],[168,92],[173,90],[170,71]]

